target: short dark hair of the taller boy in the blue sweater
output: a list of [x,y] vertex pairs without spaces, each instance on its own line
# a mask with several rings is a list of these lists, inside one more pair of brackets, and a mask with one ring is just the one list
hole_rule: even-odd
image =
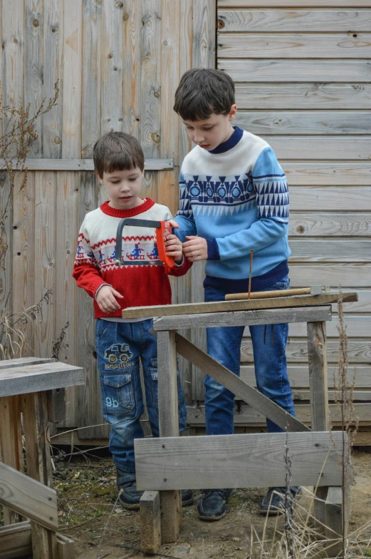
[[221,70],[193,68],[183,74],[175,92],[174,111],[184,120],[228,115],[234,105],[234,81]]

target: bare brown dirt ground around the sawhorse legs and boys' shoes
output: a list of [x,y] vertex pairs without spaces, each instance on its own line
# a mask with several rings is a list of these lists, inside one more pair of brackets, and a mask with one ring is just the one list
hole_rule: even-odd
[[[54,457],[55,487],[58,491],[59,520],[62,533],[75,540],[79,559],[140,559],[139,512],[125,511],[115,505],[115,468],[108,456],[96,457],[95,451],[75,454],[70,461],[63,454]],[[371,556],[371,454],[355,450],[352,456],[355,483],[352,486],[350,519],[351,545],[355,556]],[[193,506],[183,510],[179,541],[162,545],[158,557],[185,559],[246,559],[250,556],[251,529],[258,538],[266,528],[266,539],[276,529],[283,530],[283,517],[268,518],[258,513],[265,490],[234,490],[228,512],[216,523],[197,518],[199,495]],[[296,510],[310,506],[305,496]],[[277,524],[276,524],[277,523]],[[360,530],[362,528],[362,530]],[[254,536],[256,540],[256,535]],[[357,545],[356,545],[357,543]],[[148,555],[147,555],[148,557]]]

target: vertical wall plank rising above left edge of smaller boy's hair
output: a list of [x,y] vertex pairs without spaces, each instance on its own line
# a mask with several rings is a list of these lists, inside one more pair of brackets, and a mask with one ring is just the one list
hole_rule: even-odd
[[83,2],[82,158],[93,157],[93,145],[101,135],[101,16],[102,4],[99,0]]

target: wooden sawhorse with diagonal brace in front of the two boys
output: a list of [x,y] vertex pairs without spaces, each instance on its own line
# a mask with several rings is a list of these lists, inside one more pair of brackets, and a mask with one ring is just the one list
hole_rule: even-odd
[[[327,526],[328,538],[335,540],[333,553],[336,555],[340,551],[343,517],[345,530],[348,527],[351,470],[348,468],[345,480],[343,510],[343,468],[339,455],[342,455],[343,438],[346,439],[347,436],[343,432],[334,432],[330,437],[328,432],[325,334],[326,321],[331,320],[332,316],[331,303],[337,302],[339,297],[340,294],[333,293],[281,299],[137,307],[122,312],[122,317],[125,318],[149,316],[151,312],[152,315],[161,317],[155,321],[153,327],[158,340],[160,439],[135,441],[137,487],[145,490],[141,500],[143,550],[154,553],[161,542],[174,542],[179,538],[182,520],[181,489],[285,486],[284,448],[287,436],[292,460],[291,484],[318,485],[315,518]],[[343,302],[357,300],[356,293],[342,294],[342,297]],[[307,322],[308,325],[312,431],[177,333],[177,330],[190,328],[283,322]],[[226,386],[237,398],[246,401],[286,429],[288,435],[278,433],[263,436],[246,434],[179,438],[177,353]],[[157,491],[160,491],[160,501]]]

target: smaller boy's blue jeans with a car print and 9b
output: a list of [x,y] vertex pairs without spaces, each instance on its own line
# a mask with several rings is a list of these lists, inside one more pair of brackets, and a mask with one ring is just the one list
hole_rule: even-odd
[[[98,358],[103,417],[111,426],[110,451],[115,466],[134,473],[134,439],[143,439],[140,416],[144,411],[140,364],[153,436],[159,436],[157,339],[150,333],[152,319],[111,322],[97,319],[95,348]],[[179,430],[187,421],[187,409],[178,372]]]

